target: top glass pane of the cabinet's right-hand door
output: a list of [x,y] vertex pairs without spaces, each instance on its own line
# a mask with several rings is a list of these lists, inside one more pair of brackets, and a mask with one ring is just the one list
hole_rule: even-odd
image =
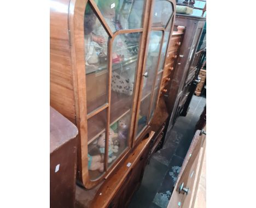
[[173,5],[166,0],[155,0],[152,27],[166,27],[173,13]]

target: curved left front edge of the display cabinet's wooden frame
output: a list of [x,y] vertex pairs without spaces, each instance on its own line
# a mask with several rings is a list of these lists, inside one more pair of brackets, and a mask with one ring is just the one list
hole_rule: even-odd
[[[68,12],[68,30],[70,31],[71,41],[71,60],[73,70],[73,86],[75,99],[75,123],[78,127],[78,178],[87,188],[93,186],[90,183],[88,174],[88,149],[87,149],[87,114],[86,108],[86,78],[84,60],[84,30],[77,27],[83,25],[84,11],[87,1],[71,0]],[[83,43],[83,44],[81,44]],[[79,87],[81,86],[81,87]]]

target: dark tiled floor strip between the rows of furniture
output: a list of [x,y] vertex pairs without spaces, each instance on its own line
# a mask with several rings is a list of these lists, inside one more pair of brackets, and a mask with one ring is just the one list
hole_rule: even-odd
[[130,208],[165,208],[171,197],[183,160],[195,133],[195,125],[206,105],[206,98],[193,96],[186,117],[179,117],[166,142],[155,152],[144,172],[141,187],[132,197]]

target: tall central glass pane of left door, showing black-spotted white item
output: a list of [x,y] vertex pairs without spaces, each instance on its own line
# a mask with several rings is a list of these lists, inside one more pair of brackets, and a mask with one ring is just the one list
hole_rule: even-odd
[[140,38],[141,33],[120,34],[113,41],[109,166],[110,157],[116,160],[128,146]]

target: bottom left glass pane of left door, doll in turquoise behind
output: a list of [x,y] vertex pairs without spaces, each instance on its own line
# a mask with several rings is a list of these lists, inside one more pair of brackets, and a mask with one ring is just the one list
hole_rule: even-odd
[[104,172],[104,141],[107,109],[88,119],[88,169],[90,180],[96,180]]

